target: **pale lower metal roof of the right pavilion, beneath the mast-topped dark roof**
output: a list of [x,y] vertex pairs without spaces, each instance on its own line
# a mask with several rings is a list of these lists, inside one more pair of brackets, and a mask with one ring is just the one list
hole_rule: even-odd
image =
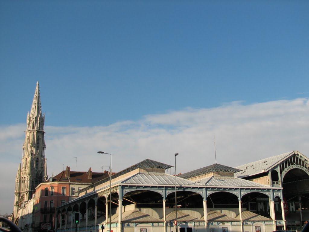
[[231,176],[211,176],[197,181],[202,185],[206,186],[222,186],[222,187],[260,187],[260,188],[269,188],[267,185],[255,183],[253,181],[244,180],[238,177]]

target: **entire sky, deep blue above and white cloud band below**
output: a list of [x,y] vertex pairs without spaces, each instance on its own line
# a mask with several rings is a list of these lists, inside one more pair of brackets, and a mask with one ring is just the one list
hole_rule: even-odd
[[201,166],[182,153],[214,162],[214,135],[224,165],[309,156],[308,11],[308,1],[1,1],[6,196],[37,81],[49,175],[76,156],[100,171],[85,161],[97,150],[118,153],[114,170],[178,152],[185,172]]

